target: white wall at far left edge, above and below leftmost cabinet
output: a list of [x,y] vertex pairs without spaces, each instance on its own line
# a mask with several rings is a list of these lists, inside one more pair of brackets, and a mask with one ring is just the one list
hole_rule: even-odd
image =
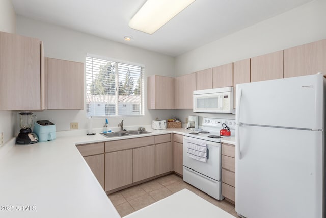
[[[16,32],[16,13],[11,0],[0,1],[0,31],[8,33]],[[15,123],[15,113],[11,111],[0,111],[0,132],[4,133],[4,142],[13,137]]]

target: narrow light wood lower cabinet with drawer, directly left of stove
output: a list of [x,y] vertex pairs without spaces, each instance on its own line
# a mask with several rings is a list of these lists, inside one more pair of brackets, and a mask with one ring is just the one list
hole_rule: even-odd
[[183,172],[183,135],[173,134],[173,171],[182,176]]

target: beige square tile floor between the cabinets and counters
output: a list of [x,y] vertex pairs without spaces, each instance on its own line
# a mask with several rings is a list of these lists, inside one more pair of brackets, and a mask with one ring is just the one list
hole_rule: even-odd
[[206,193],[200,191],[188,183],[185,183],[181,177],[176,174],[169,174],[140,185],[136,185],[124,190],[108,195],[113,205],[123,217],[136,210],[146,207],[156,201],[172,195],[175,192],[187,188],[196,195],[206,199],[210,203],[220,207],[235,217],[237,216],[234,205],[226,200],[218,201]]

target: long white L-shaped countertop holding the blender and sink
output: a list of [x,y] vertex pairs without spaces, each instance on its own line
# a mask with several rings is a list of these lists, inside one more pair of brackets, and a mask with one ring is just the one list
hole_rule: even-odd
[[[57,132],[56,140],[29,146],[11,139],[0,147],[0,217],[120,217],[75,145],[189,132],[147,131],[113,138]],[[232,137],[223,141],[232,143]]]

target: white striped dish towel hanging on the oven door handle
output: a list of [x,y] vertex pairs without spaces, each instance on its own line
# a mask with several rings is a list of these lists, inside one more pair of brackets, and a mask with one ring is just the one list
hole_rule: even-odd
[[187,155],[195,160],[206,162],[207,143],[196,139],[187,140]]

